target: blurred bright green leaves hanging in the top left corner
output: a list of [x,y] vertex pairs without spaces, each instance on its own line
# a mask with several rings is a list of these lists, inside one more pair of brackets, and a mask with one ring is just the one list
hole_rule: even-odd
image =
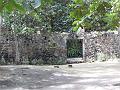
[[31,12],[34,9],[44,6],[46,3],[51,3],[52,0],[0,0],[0,12],[6,10],[12,12],[18,10],[19,12]]

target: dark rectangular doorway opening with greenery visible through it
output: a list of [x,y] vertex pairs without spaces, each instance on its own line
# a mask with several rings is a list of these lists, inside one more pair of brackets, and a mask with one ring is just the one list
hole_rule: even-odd
[[67,40],[67,57],[68,58],[83,57],[83,39]]

